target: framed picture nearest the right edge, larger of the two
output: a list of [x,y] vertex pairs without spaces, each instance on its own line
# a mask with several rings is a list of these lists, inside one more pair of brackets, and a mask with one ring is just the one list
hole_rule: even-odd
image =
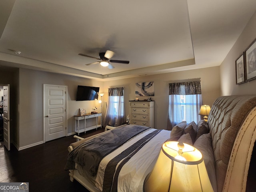
[[250,81],[256,78],[256,39],[245,50],[245,80]]

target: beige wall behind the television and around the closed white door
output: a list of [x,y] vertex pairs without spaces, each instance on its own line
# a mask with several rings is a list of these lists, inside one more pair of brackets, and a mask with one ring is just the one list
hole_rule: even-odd
[[43,84],[68,86],[68,133],[74,132],[79,108],[91,112],[93,106],[100,106],[97,101],[76,101],[78,85],[103,87],[100,81],[20,68],[19,83],[19,148],[43,141]]

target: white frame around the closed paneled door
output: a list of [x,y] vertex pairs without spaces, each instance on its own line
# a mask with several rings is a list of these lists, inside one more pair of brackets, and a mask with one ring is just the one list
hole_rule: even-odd
[[45,119],[46,119],[46,111],[45,111],[45,87],[46,86],[53,86],[53,87],[64,87],[66,88],[66,136],[68,136],[68,86],[66,85],[51,85],[51,84],[43,84],[43,135],[44,135],[44,143],[45,143]]

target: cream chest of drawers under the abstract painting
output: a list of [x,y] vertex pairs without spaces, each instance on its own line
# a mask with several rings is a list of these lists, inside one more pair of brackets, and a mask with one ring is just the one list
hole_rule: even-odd
[[129,101],[130,124],[154,128],[154,101]]

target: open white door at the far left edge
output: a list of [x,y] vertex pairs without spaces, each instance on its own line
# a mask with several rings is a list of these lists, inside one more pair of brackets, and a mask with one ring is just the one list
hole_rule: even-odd
[[10,151],[10,84],[4,86],[4,146]]

